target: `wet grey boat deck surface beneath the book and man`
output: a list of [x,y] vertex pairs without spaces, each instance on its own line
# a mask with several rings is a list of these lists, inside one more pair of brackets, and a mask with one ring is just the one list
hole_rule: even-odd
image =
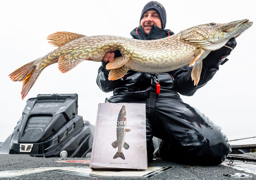
[[[247,153],[244,156],[252,157],[253,154]],[[1,179],[114,179],[113,177],[103,178],[102,176],[112,176],[111,173],[114,173],[115,176],[122,176],[125,172],[111,172],[111,171],[97,171],[91,172],[91,169],[88,169],[89,164],[84,163],[65,163],[65,162],[56,162],[56,161],[66,161],[66,160],[80,160],[86,163],[85,158],[66,158],[65,160],[57,158],[35,158],[30,157],[29,155],[0,155],[0,177]],[[87,161],[88,162],[88,161]],[[226,164],[230,160],[225,161]],[[244,164],[243,164],[244,163]],[[237,179],[233,177],[226,177],[223,174],[228,173],[245,173],[250,175],[246,179],[256,179],[256,163],[255,162],[242,162],[234,161],[233,168],[230,166],[224,166],[222,164],[218,166],[194,166],[192,164],[178,164],[170,161],[163,160],[161,158],[156,158],[152,162],[148,163],[148,167],[153,171],[148,173],[150,174],[150,179]],[[237,165],[236,165],[237,164]],[[237,170],[234,167],[239,168],[238,166],[245,168],[244,170]],[[47,168],[37,168],[36,167],[47,167]],[[51,167],[51,169],[48,169]],[[154,170],[155,167],[172,167],[165,170]],[[29,170],[27,170],[29,169]],[[20,171],[10,171],[10,170],[20,170]],[[81,170],[79,172],[79,170]],[[245,172],[249,170],[251,173]],[[8,172],[3,172],[8,171]],[[36,172],[37,171],[37,172]],[[41,171],[41,172],[40,172]],[[47,171],[47,172],[46,172]],[[39,172],[39,173],[38,173]],[[44,173],[42,173],[44,172]],[[139,173],[141,173],[140,171]],[[253,174],[254,172],[254,174]],[[23,176],[15,177],[23,173]],[[24,173],[34,173],[32,175],[24,175]],[[137,176],[137,171],[126,172],[125,174],[131,173],[132,176]],[[91,174],[91,175],[90,175]],[[95,175],[96,174],[96,175]],[[142,173],[143,174],[143,173]],[[144,173],[147,174],[147,173]],[[120,179],[121,177],[115,178]],[[128,178],[124,179],[140,179],[140,178]],[[145,179],[145,176],[144,178]],[[147,178],[146,178],[147,179]]]

